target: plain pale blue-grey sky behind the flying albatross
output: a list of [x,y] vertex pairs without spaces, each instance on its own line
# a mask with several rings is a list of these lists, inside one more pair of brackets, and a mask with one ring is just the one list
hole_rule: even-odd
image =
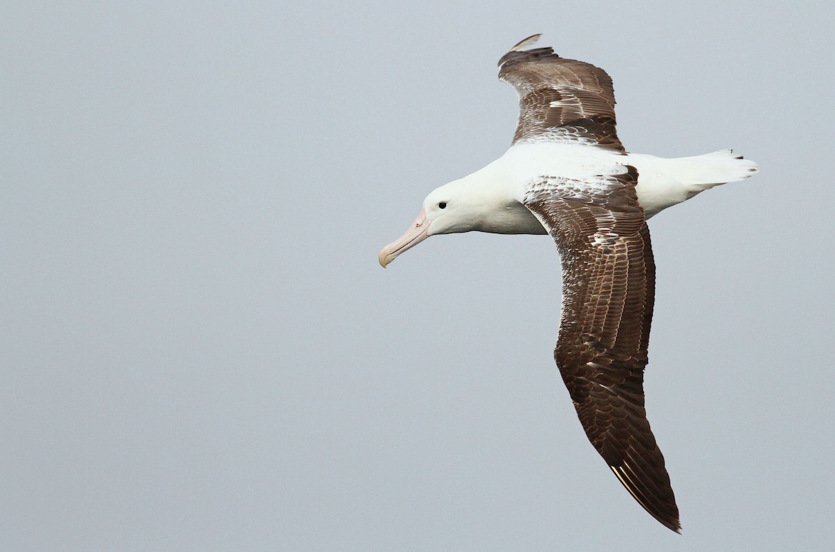
[[[817,4],[5,3],[0,545],[830,549]],[[681,536],[580,428],[547,236],[377,264],[507,148],[533,33],[610,73],[627,149],[762,166],[650,222]]]

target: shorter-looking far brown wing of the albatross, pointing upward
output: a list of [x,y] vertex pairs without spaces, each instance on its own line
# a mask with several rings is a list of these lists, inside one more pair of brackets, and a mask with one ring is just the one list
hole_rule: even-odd
[[539,36],[498,60],[499,80],[519,94],[514,144],[547,140],[624,152],[615,132],[612,79],[590,63],[560,58],[553,48],[522,50]]

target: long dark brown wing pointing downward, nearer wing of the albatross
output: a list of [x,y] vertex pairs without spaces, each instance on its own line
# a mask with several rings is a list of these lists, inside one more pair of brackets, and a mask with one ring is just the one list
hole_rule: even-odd
[[[617,174],[618,171],[623,174]],[[634,167],[589,180],[543,177],[525,206],[563,268],[554,359],[589,440],[638,503],[674,531],[676,497],[646,419],[644,367],[655,298],[650,231]]]

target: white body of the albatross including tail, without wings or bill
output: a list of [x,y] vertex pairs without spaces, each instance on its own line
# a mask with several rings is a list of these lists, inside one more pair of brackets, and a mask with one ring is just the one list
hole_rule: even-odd
[[[493,163],[460,180],[453,180],[428,195],[429,211],[440,202],[470,209],[458,225],[443,233],[478,230],[494,234],[547,234],[539,220],[523,205],[533,180],[543,175],[586,180],[610,174],[615,165],[631,165],[638,171],[635,192],[645,218],[689,200],[703,190],[743,180],[757,170],[751,160],[735,157],[730,149],[710,154],[666,159],[647,154],[618,154],[580,144],[532,142],[512,145]],[[615,169],[616,170],[616,169]],[[450,201],[455,198],[455,201]],[[441,233],[429,230],[429,234]]]

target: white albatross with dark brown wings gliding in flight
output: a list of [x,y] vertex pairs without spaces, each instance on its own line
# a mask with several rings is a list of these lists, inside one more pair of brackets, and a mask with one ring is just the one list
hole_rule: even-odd
[[380,264],[435,234],[550,234],[563,280],[554,359],[579,421],[638,504],[678,532],[670,476],[644,408],[655,300],[646,219],[743,180],[757,165],[730,149],[679,159],[626,153],[609,75],[552,48],[524,49],[539,36],[498,61],[498,78],[519,94],[507,153],[429,194],[406,233],[380,251]]

